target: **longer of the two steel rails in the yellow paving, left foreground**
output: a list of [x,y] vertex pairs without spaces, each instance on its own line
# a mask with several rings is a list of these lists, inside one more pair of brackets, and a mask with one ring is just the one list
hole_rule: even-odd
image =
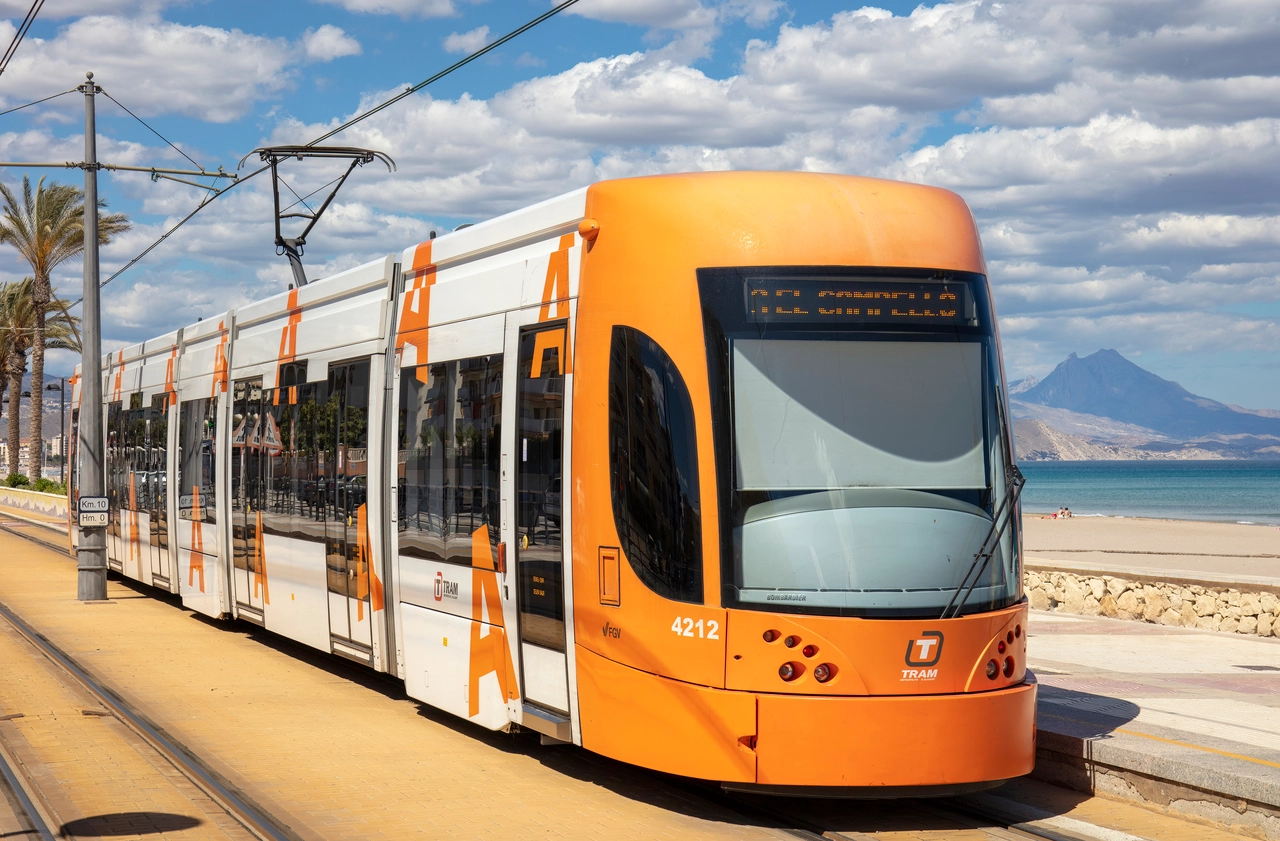
[[[35,539],[32,539],[35,541]],[[152,725],[136,713],[122,698],[99,684],[76,661],[27,625],[6,604],[0,603],[0,617],[4,617],[28,643],[35,645],[50,661],[63,668],[78,684],[87,689],[106,707],[125,727],[146,741],[173,767],[205,792],[224,812],[261,841],[301,841],[300,836],[285,826],[276,823],[270,814],[257,806],[243,792],[221,780],[197,757],[188,753],[180,744],[170,740],[159,726]]]

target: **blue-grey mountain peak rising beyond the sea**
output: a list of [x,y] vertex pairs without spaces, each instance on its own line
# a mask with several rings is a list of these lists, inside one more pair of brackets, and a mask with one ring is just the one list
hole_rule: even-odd
[[1083,358],[1073,352],[1043,381],[1019,397],[1027,403],[1110,417],[1181,438],[1280,435],[1280,419],[1239,412],[1197,397],[1111,348]]

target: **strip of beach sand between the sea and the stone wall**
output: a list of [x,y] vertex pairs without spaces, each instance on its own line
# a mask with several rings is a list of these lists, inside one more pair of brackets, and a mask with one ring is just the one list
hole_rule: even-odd
[[1028,559],[1280,580],[1280,529],[1139,517],[1023,516]]

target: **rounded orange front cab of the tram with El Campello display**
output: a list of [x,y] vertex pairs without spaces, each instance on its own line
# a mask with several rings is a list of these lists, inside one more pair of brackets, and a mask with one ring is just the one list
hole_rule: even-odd
[[594,184],[586,216],[582,746],[778,794],[1028,773],[1021,477],[965,204],[739,173]]

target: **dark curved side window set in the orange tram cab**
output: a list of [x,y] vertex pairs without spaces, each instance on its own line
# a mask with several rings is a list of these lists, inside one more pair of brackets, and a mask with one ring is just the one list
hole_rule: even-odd
[[622,552],[645,586],[703,602],[701,511],[694,404],[657,342],[613,328],[609,469]]

